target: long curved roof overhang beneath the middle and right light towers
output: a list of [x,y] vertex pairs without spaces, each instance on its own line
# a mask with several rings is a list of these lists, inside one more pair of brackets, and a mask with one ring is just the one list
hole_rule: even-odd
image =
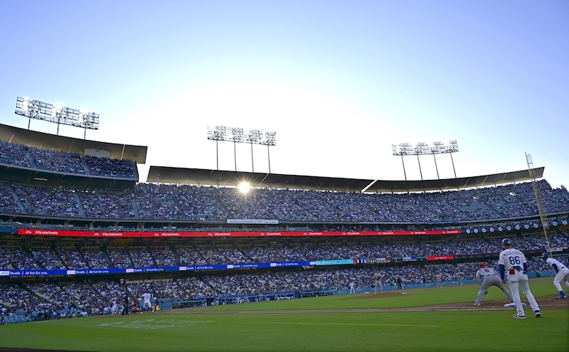
[[[532,169],[533,177],[542,178],[543,169],[544,167]],[[147,182],[221,187],[236,187],[242,182],[248,182],[251,186],[262,188],[341,192],[365,191],[366,193],[408,193],[496,186],[504,183],[529,181],[531,179],[528,170],[462,178],[446,178],[441,180],[381,181],[358,178],[261,174],[242,171],[150,166]]]

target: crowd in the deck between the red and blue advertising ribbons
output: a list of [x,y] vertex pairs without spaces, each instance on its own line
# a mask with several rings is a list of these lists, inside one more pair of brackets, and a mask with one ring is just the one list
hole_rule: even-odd
[[[542,234],[512,238],[520,250],[544,250]],[[563,250],[569,246],[564,233],[550,233],[549,245]],[[166,243],[120,242],[81,247],[60,242],[57,247],[34,242],[28,245],[0,244],[0,270],[105,269],[127,267],[166,267],[190,265],[223,265],[263,262],[309,262],[313,260],[377,260],[379,258],[424,258],[429,256],[494,255],[501,251],[501,238],[449,238],[446,240],[393,240],[346,238],[319,239],[317,242],[287,240],[252,241],[233,245],[212,240],[207,246],[193,245],[190,240],[179,246]]]

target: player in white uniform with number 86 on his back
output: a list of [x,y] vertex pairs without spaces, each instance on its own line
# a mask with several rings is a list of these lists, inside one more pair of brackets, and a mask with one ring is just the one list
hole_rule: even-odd
[[500,252],[498,259],[500,277],[502,279],[502,283],[505,284],[505,275],[506,273],[508,274],[508,285],[510,287],[511,296],[514,299],[514,304],[516,304],[517,311],[514,318],[526,319],[526,314],[524,313],[523,305],[521,304],[519,287],[521,287],[523,294],[526,295],[536,318],[539,318],[541,316],[541,312],[539,311],[538,302],[536,302],[536,298],[533,297],[531,289],[529,289],[528,261],[526,260],[526,256],[519,250],[512,248],[512,242],[509,238],[504,238],[504,240],[502,240],[502,248],[504,248],[504,250]]

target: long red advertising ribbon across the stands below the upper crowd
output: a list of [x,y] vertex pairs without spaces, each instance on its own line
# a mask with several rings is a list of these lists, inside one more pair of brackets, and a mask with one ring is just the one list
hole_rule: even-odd
[[[190,237],[327,237],[327,236],[413,236],[413,235],[458,235],[460,230],[432,231],[366,231],[366,232],[303,232],[303,231],[267,231],[267,232],[169,232],[169,231],[78,231],[78,230],[41,230],[31,228],[18,229],[18,235],[54,236],[54,237],[92,237],[92,238],[190,238]],[[452,257],[452,256],[451,256]],[[452,259],[452,258],[450,258]],[[430,259],[431,260],[431,259]],[[432,260],[447,260],[432,259]]]

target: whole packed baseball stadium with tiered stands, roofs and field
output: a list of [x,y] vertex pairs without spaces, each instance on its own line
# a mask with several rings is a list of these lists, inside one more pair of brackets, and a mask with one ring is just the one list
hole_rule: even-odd
[[[542,258],[569,262],[569,193],[544,167],[381,181],[150,166],[140,182],[147,146],[0,131],[0,351],[569,341],[569,299]],[[534,316],[521,294],[522,321],[497,287],[475,303],[504,238],[539,304]]]

